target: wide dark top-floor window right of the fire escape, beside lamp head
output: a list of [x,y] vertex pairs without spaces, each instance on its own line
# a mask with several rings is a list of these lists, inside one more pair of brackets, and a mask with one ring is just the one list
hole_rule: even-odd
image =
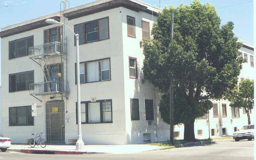
[[76,24],[74,26],[75,33],[79,34],[79,45],[109,39],[108,28],[108,17],[81,24]]

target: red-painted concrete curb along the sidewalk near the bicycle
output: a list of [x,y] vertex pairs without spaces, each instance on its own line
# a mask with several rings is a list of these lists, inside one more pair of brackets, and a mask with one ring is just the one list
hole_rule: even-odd
[[7,151],[15,151],[26,154],[108,154],[102,152],[88,151],[58,151],[58,150],[37,150],[37,149],[7,149]]

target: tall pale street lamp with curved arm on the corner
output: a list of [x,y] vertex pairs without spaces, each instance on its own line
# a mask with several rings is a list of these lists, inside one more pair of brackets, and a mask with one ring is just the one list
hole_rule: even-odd
[[80,99],[80,65],[79,65],[79,35],[76,34],[71,28],[70,26],[68,26],[67,24],[58,22],[56,20],[53,19],[47,19],[45,21],[46,23],[49,24],[62,24],[67,26],[72,33],[76,36],[76,80],[77,80],[77,109],[78,109],[78,140],[76,141],[76,150],[82,150],[83,146],[84,146],[84,142],[82,140],[82,131],[81,131],[81,99]]

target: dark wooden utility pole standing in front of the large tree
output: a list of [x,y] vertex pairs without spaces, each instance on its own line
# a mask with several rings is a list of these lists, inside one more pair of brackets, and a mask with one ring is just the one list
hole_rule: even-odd
[[[172,13],[172,25],[171,25],[171,43],[173,39],[173,18],[174,15]],[[171,78],[170,78],[170,142],[173,144],[173,125],[174,125],[174,83],[173,83],[173,73],[171,73]]]

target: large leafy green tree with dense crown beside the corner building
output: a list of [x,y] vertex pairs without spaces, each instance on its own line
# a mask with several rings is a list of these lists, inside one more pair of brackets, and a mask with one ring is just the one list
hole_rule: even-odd
[[[171,39],[171,14],[174,38]],[[214,6],[194,0],[190,6],[164,8],[151,41],[143,41],[144,78],[158,87],[160,113],[169,123],[169,79],[174,79],[175,124],[184,124],[184,140],[194,141],[195,118],[207,113],[210,99],[221,99],[237,84],[242,64],[234,24],[221,25]]]

